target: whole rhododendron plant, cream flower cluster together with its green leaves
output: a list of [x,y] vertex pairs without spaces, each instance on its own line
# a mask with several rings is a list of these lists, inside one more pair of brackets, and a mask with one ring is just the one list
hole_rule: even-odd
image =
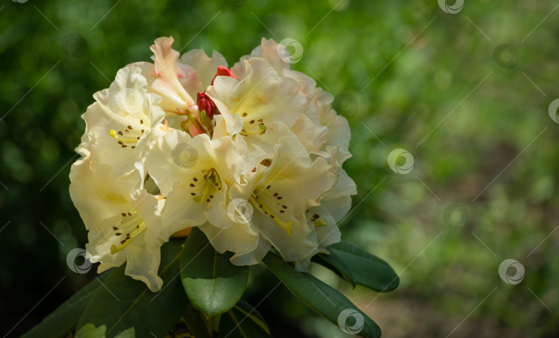
[[[218,52],[179,56],[172,44],[157,39],[153,63],[119,70],[82,116],[70,196],[88,230],[86,258],[100,263],[98,273],[118,268],[101,275],[103,287],[81,308],[77,336],[165,335],[180,323],[196,337],[228,335],[242,329],[239,315],[268,335],[239,300],[248,266],[260,262],[344,332],[380,336],[306,273],[312,260],[353,285],[398,286],[384,261],[340,242],[337,223],[357,191],[342,169],[351,132],[333,96],[290,70],[286,48],[272,40],[231,68]],[[111,295],[114,313],[101,315]],[[141,318],[147,306],[155,318]],[[131,309],[140,315],[127,316]],[[196,321],[208,332],[195,332]]]

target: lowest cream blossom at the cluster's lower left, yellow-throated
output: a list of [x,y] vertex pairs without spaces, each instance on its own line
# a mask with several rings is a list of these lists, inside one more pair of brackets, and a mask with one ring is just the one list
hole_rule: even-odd
[[87,258],[101,262],[97,273],[126,262],[126,275],[159,291],[164,199],[138,189],[139,173],[116,178],[109,165],[92,168],[91,158],[72,165],[70,182],[70,197],[88,229]]

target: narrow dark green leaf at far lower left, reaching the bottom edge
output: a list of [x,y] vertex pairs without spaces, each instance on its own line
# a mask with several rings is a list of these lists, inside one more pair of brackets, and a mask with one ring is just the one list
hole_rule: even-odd
[[76,328],[79,317],[84,312],[89,299],[91,299],[95,290],[101,286],[99,282],[102,282],[111,272],[112,269],[101,273],[96,279],[93,279],[88,285],[81,288],[80,291],[72,295],[70,299],[45,317],[41,324],[32,328],[22,337],[44,337],[45,332],[48,332],[50,337],[66,337],[69,332]]

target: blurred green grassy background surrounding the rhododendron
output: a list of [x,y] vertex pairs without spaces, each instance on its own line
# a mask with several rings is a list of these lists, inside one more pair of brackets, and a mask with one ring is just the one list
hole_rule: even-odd
[[[352,131],[345,167],[359,190],[342,237],[384,258],[401,284],[377,297],[312,272],[384,337],[557,337],[559,125],[548,107],[559,98],[559,10],[527,0],[442,8],[434,0],[2,1],[0,335],[26,332],[95,276],[66,266],[86,242],[68,173],[92,94],[124,65],[148,61],[158,36],[174,36],[182,52],[218,50],[230,66],[265,36],[299,41],[293,67],[337,97]],[[389,167],[398,148],[413,156],[409,173]],[[524,266],[520,284],[500,278],[506,259]],[[246,299],[259,304],[275,284],[255,268]],[[344,337],[284,286],[258,309],[276,337]]]

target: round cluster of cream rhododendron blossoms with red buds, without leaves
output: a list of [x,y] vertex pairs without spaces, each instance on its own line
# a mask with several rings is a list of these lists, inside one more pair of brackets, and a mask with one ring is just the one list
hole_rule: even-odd
[[70,196],[88,259],[99,273],[126,262],[126,275],[158,291],[161,245],[197,226],[235,265],[273,247],[306,271],[340,242],[356,193],[333,96],[290,70],[272,40],[231,68],[218,52],[180,56],[172,44],[157,39],[153,63],[119,70],[82,116]]

